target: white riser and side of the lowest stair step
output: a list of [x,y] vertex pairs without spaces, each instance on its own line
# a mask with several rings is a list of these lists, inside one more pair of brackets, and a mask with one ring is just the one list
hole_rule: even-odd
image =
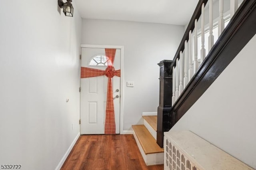
[[133,136],[136,140],[136,143],[138,145],[140,153],[141,153],[141,155],[144,159],[144,162],[146,163],[147,166],[164,164],[164,152],[154,153],[154,154],[145,154],[144,150],[142,149],[142,146],[140,145],[140,141],[138,140],[134,131],[133,131]]

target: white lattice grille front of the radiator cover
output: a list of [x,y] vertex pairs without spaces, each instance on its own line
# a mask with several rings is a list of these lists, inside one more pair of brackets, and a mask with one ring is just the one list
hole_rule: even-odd
[[164,141],[165,170],[200,170],[168,139]]

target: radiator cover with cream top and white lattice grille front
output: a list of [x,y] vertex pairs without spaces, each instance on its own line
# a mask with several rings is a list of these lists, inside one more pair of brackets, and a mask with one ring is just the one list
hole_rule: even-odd
[[190,131],[164,132],[164,170],[254,170]]

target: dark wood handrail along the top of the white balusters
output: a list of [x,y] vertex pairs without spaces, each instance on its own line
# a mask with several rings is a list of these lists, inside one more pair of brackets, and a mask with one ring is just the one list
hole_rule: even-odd
[[[191,18],[190,22],[188,23],[188,27],[187,27],[187,29],[186,29],[186,31],[184,33],[184,36],[183,36],[183,38],[182,38],[182,40],[180,42],[180,45],[179,45],[179,47],[177,49],[177,52],[174,55],[174,58],[172,60],[173,63],[171,65],[171,68],[173,66],[174,67],[176,66],[176,59],[180,57],[180,51],[184,50],[184,43],[185,43],[186,40],[188,40],[189,31],[190,30],[191,31],[194,30],[194,28],[195,28],[195,20],[198,20],[200,18],[200,16],[201,16],[202,4],[204,4],[204,6],[205,6],[207,2],[208,2],[208,0],[199,0],[198,4],[196,6],[196,9],[195,9],[195,11],[194,11],[194,13],[192,15],[192,18]],[[172,69],[170,71],[171,71],[170,73],[172,73]]]

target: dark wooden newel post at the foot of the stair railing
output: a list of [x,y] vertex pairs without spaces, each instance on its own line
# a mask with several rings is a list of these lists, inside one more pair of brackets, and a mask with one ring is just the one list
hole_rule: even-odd
[[172,60],[163,60],[158,63],[160,66],[160,89],[159,106],[157,109],[157,130],[156,142],[163,147],[164,132],[171,128],[171,105],[172,105]]

